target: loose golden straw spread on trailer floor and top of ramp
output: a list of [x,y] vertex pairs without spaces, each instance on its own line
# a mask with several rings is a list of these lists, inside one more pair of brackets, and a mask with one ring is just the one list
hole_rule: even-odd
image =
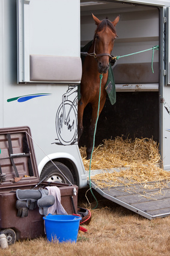
[[[90,160],[86,160],[86,148],[81,147],[85,170],[89,170]],[[159,167],[159,144],[153,138],[105,139],[103,144],[94,148],[91,160],[91,170],[103,170],[91,179],[99,187],[117,185],[145,184],[154,182],[154,186],[164,186],[170,181],[170,173]],[[118,168],[120,171],[109,172],[108,169]],[[108,170],[108,171],[106,171]],[[162,181],[164,181],[162,183]],[[150,185],[153,188],[153,184]],[[148,185],[149,187],[149,185]]]

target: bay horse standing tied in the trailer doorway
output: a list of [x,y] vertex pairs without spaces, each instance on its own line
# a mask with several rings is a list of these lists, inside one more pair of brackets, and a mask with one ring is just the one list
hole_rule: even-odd
[[88,131],[87,159],[91,158],[93,149],[94,129],[99,107],[100,74],[103,74],[103,78],[100,92],[99,115],[102,112],[106,101],[107,92],[105,90],[105,85],[108,80],[109,62],[111,61],[111,57],[113,57],[111,56],[111,52],[114,48],[115,38],[117,37],[115,26],[120,20],[120,16],[117,16],[113,22],[109,21],[107,18],[100,21],[94,15],[93,19],[97,28],[91,48],[83,62],[82,79],[80,82],[80,100],[78,103],[79,139],[83,133],[83,111],[88,103],[91,103],[92,106],[91,124]]

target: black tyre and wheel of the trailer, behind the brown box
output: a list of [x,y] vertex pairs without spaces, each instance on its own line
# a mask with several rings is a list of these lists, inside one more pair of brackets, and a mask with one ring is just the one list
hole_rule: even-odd
[[[56,168],[56,166],[58,167]],[[68,167],[61,162],[49,162],[45,165],[43,170],[41,171],[40,180],[47,176],[44,181],[47,182],[56,182],[56,183],[63,183],[63,184],[73,184],[74,185],[74,178],[71,171]]]

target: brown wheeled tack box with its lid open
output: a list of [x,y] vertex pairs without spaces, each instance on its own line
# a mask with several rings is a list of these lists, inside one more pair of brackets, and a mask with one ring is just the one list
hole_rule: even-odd
[[56,186],[67,214],[77,211],[76,185],[43,181],[35,187],[40,181],[29,127],[0,129],[0,149],[0,232],[7,235],[9,245],[19,239],[44,236],[43,215],[39,213],[38,206],[32,210],[16,208],[17,189],[37,190]]

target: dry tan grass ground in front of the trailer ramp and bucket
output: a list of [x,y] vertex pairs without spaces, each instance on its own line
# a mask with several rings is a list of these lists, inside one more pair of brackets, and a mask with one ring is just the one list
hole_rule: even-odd
[[[88,207],[85,191],[79,191],[79,205]],[[170,255],[170,217],[148,220],[109,200],[97,196],[99,206],[91,210],[87,233],[79,231],[77,243],[48,243],[46,238],[16,242],[8,249],[0,248],[1,256],[50,255]],[[96,205],[88,192],[91,208]]]

